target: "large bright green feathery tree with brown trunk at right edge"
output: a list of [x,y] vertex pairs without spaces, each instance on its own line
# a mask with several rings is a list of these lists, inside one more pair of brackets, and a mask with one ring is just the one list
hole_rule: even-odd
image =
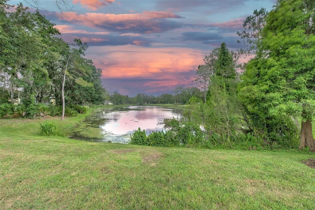
[[259,52],[247,65],[240,90],[249,110],[261,116],[301,116],[299,149],[310,150],[315,150],[314,7],[311,0],[277,2],[266,17]]

